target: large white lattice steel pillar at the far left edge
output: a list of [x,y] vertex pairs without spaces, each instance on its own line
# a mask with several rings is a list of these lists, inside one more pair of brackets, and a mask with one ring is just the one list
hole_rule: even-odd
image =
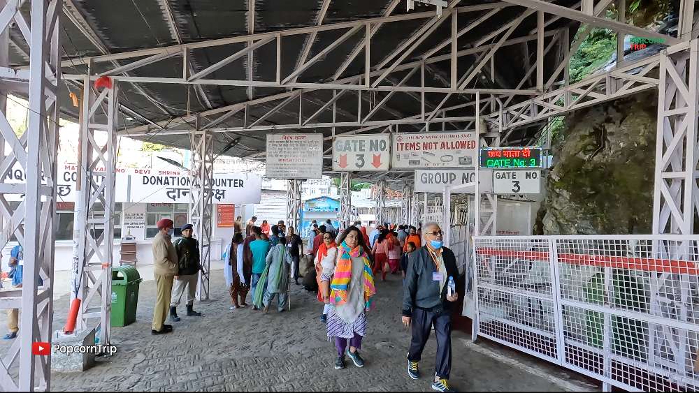
[[[0,3],[2,51],[6,59],[7,30],[17,20],[24,22],[17,2]],[[0,135],[10,145],[0,156],[0,214],[3,216],[0,246],[13,237],[22,246],[24,274],[22,288],[3,291],[0,308],[20,312],[17,339],[6,347],[0,362],[0,390],[34,392],[50,390],[51,357],[31,354],[31,344],[51,340],[53,318],[54,216],[56,196],[59,103],[61,86],[59,15],[57,0],[31,0],[30,31],[22,34],[31,49],[28,72],[11,73],[3,79],[4,93],[29,98],[29,124],[20,138],[7,121],[6,107],[0,107]],[[20,38],[21,39],[21,38]],[[4,99],[4,98],[3,98]],[[6,175],[18,163],[26,184],[8,181]],[[10,206],[8,197],[19,197]],[[43,282],[39,286],[38,281]]]

